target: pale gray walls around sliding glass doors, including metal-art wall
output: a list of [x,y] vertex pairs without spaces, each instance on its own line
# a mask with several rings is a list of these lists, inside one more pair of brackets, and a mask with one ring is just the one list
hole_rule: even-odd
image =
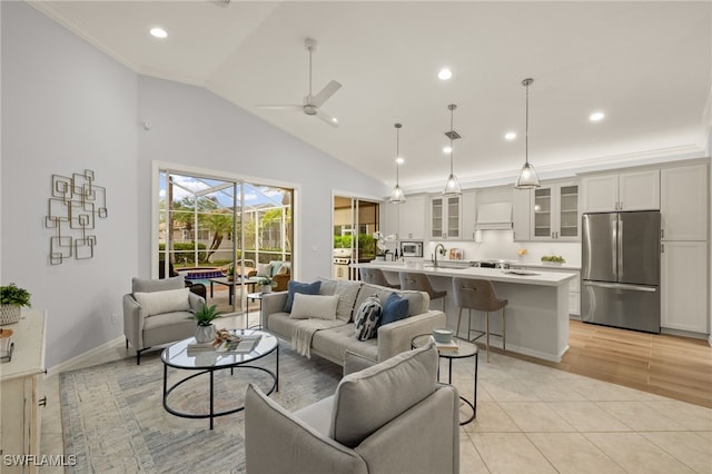
[[[0,276],[48,310],[48,367],[121,336],[121,296],[150,275],[151,160],[300,186],[304,279],[330,275],[332,189],[388,194],[204,89],[137,76],[24,2],[0,8]],[[95,258],[49,265],[51,176],[85,169],[108,196]]]

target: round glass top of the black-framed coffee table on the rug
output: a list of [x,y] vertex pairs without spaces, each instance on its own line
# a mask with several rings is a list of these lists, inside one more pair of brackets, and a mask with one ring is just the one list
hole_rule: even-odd
[[189,337],[166,347],[160,358],[170,367],[186,369],[234,367],[271,354],[279,345],[276,336],[264,330],[230,329],[230,334],[246,336],[246,338],[258,337],[258,340],[248,352],[220,353],[215,349],[192,349],[189,346],[196,344],[196,339]]

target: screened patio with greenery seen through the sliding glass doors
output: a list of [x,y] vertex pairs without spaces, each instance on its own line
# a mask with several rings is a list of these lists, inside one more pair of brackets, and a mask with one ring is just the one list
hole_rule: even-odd
[[274,280],[286,285],[284,274],[294,273],[293,189],[168,170],[159,180],[159,278],[205,285],[208,305],[225,313],[258,307],[247,295],[267,284],[261,276],[279,270]]

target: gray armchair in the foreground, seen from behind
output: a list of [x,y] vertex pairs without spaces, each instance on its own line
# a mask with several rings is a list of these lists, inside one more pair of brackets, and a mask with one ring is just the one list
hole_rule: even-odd
[[[360,367],[347,353],[345,369]],[[457,389],[437,383],[433,345],[346,375],[336,393],[295,413],[250,385],[247,472],[457,473]]]

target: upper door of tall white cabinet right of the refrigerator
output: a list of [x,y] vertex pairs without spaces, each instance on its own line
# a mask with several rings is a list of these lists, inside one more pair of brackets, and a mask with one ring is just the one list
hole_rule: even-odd
[[660,171],[663,240],[708,240],[708,166]]

